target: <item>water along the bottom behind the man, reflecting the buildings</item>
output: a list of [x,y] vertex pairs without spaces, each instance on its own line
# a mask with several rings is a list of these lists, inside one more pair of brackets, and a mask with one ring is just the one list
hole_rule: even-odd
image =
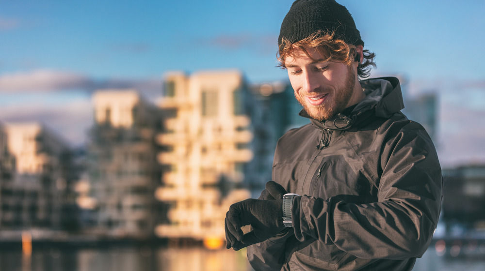
[[[1,271],[251,271],[245,251],[200,247],[43,247],[31,256],[0,251]],[[444,257],[428,249],[413,271],[485,271],[485,257]]]

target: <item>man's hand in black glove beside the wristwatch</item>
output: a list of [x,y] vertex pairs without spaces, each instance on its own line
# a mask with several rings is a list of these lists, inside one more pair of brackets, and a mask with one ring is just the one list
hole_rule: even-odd
[[[286,190],[281,185],[269,181],[260,196],[267,199],[251,198],[231,205],[226,213],[226,247],[240,250],[286,229],[282,207],[285,194]],[[251,225],[253,230],[243,234],[241,227],[246,225]]]

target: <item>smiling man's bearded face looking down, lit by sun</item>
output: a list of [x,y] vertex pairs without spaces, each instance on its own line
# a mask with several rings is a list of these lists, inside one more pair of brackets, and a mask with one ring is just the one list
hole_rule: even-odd
[[[363,92],[353,65],[323,61],[315,48],[301,49],[285,60],[295,97],[308,115],[316,120],[328,120],[350,105],[358,103]],[[360,92],[360,93],[359,93]]]

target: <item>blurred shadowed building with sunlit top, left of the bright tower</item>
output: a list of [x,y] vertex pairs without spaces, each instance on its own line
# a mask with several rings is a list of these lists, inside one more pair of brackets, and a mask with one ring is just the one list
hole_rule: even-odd
[[100,90],[93,95],[95,124],[86,167],[78,183],[78,204],[93,213],[101,234],[146,238],[160,214],[155,188],[160,165],[155,137],[161,114],[135,90]]

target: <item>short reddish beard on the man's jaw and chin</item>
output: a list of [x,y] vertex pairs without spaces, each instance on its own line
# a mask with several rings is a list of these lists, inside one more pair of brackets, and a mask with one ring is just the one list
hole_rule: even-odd
[[[330,101],[323,102],[322,105],[307,105],[305,103],[305,95],[297,95],[295,92],[295,98],[303,106],[303,109],[307,112],[308,116],[315,120],[328,120],[342,112],[349,104],[352,94],[354,92],[354,86],[356,82],[356,75],[352,68],[352,65],[348,66],[347,78],[342,88],[335,89],[334,92],[328,92],[332,94]],[[326,91],[322,91],[325,93]]]

